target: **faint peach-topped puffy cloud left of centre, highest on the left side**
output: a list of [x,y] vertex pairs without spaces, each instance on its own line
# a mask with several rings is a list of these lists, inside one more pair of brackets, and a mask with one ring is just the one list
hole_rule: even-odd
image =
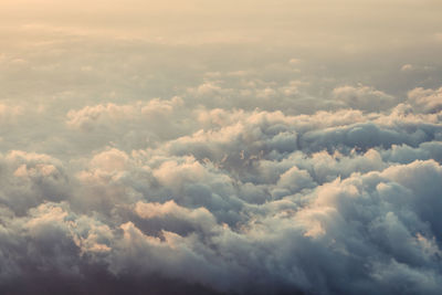
[[193,113],[178,96],[126,104],[107,103],[70,109],[65,113],[64,124],[69,129],[67,137],[76,138],[71,150],[80,150],[78,156],[104,146],[130,151],[193,131],[197,125],[187,112]]

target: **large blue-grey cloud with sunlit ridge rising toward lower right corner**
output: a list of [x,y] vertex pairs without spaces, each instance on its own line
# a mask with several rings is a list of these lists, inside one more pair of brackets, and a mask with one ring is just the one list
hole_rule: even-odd
[[[398,181],[401,173],[417,180]],[[438,228],[429,225],[436,209],[424,203],[438,197],[415,186],[428,177],[440,178],[440,165],[417,161],[355,175],[319,186],[304,207],[267,203],[241,228],[212,225],[202,236],[164,231],[162,238],[152,238],[125,223],[119,245],[125,259],[113,267],[159,271],[221,292],[436,294],[440,241]],[[165,218],[175,207],[137,204],[137,211],[144,218]],[[147,209],[150,213],[143,213]],[[175,218],[182,213],[176,208]],[[190,220],[197,215],[186,213]],[[383,272],[401,284],[386,284]]]

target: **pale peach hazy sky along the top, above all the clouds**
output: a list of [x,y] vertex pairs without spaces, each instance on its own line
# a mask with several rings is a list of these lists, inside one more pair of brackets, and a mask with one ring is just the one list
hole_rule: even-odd
[[[92,3],[91,3],[92,2]],[[162,40],[326,46],[440,41],[440,1],[2,1],[2,27]],[[44,27],[41,28],[41,27]],[[36,30],[39,31],[39,30]],[[367,40],[371,39],[371,40]],[[376,39],[377,42],[372,39]]]

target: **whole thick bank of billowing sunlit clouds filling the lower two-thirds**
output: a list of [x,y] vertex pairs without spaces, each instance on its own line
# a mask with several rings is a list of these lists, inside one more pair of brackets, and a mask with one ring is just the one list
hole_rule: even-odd
[[180,97],[69,110],[65,131],[101,148],[0,157],[0,291],[440,294],[440,89],[373,113],[394,98],[358,87],[313,115]]

